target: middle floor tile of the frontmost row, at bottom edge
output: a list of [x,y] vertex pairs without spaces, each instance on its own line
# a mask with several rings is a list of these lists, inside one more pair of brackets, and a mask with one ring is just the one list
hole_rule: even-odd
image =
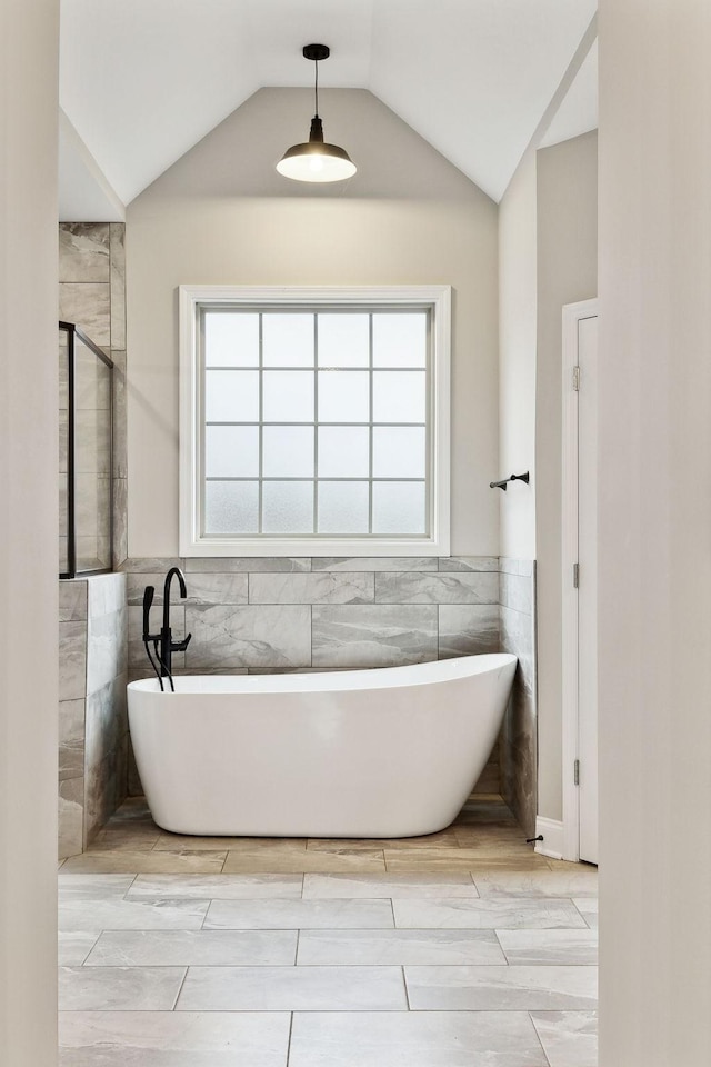
[[548,1067],[523,1011],[296,1013],[289,1067]]

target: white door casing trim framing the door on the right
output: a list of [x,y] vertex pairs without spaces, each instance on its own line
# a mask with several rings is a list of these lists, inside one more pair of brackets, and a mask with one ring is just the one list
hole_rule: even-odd
[[578,366],[578,325],[598,315],[598,299],[568,303],[562,313],[562,523],[561,523],[561,704],[562,704],[562,796],[563,859],[580,860],[580,788],[575,761],[580,758],[579,590],[573,585],[578,564],[579,530],[579,390],[574,383]]

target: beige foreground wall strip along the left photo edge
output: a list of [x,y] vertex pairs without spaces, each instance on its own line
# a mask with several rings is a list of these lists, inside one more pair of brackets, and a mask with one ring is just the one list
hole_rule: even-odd
[[58,0],[0,7],[0,1059],[57,1063]]

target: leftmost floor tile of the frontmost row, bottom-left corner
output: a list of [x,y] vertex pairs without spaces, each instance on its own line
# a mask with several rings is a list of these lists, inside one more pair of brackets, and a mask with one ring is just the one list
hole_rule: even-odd
[[286,1067],[289,1013],[68,1011],[59,1067]]

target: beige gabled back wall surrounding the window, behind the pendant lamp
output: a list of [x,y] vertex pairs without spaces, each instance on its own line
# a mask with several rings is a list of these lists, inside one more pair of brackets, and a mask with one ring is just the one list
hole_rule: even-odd
[[363,90],[320,108],[357,177],[289,182],[311,108],[261,90],[128,209],[129,555],[178,552],[177,286],[430,282],[454,288],[452,552],[497,555],[497,207]]

